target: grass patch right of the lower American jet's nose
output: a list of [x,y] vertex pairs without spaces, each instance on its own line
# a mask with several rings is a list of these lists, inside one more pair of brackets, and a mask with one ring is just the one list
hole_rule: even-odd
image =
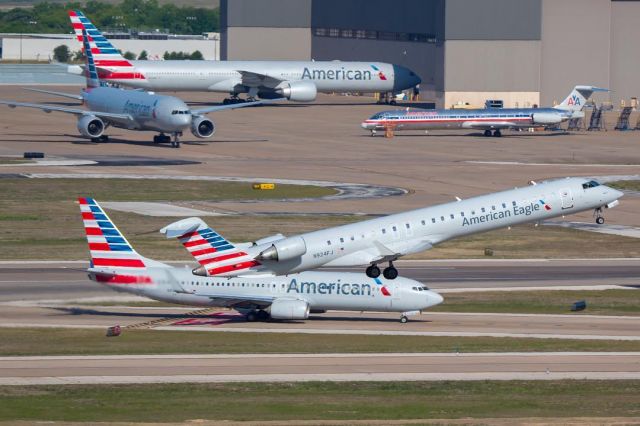
[[[571,305],[587,302],[587,309],[571,313]],[[640,291],[513,291],[447,293],[439,312],[491,312],[518,314],[640,315]]]

